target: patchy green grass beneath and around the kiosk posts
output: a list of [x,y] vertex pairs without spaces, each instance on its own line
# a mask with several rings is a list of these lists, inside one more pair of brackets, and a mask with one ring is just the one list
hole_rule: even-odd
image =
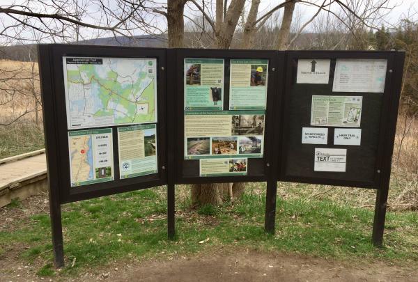
[[[373,210],[327,198],[277,198],[276,233],[263,231],[265,185],[249,185],[241,201],[189,209],[178,187],[176,240],[167,240],[166,189],[159,187],[63,205],[65,268],[74,275],[113,260],[169,258],[220,246],[304,253],[339,260],[418,260],[418,215],[388,212],[385,247],[371,244]],[[55,275],[47,214],[11,223],[0,232],[0,253],[22,248],[22,261],[38,262],[40,276]],[[210,238],[207,242],[199,241]],[[25,246],[23,248],[23,246]],[[74,266],[72,267],[72,262]]]

